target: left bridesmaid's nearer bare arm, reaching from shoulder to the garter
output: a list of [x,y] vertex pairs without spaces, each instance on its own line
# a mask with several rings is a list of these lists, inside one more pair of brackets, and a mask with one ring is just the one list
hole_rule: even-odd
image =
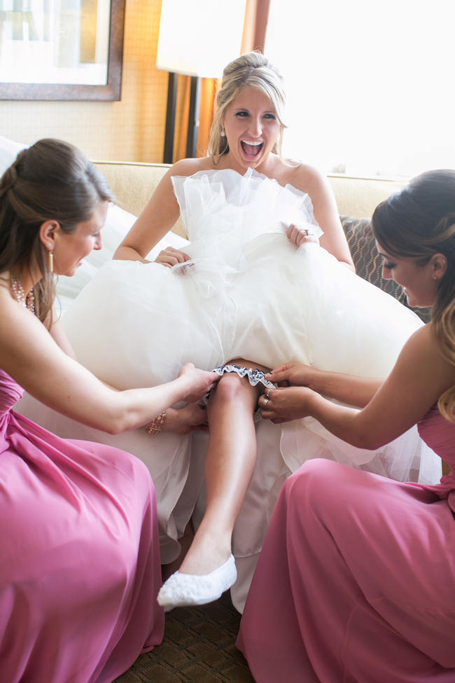
[[197,401],[218,380],[186,364],[165,384],[116,391],[64,353],[9,292],[0,291],[0,314],[0,367],[49,408],[109,434],[144,426],[177,401]]

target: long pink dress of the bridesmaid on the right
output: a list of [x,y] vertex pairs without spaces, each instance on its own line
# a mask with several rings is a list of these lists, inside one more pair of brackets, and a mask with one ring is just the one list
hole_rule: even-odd
[[455,425],[435,486],[309,460],[276,504],[237,645],[258,683],[455,682]]

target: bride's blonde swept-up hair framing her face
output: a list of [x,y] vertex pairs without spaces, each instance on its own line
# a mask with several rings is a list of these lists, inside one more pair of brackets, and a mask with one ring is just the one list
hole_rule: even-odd
[[215,163],[217,158],[229,151],[228,139],[221,136],[226,109],[241,90],[246,87],[259,90],[272,102],[281,126],[279,139],[276,141],[272,152],[282,158],[281,144],[283,129],[286,127],[283,120],[286,103],[283,78],[278,69],[264,55],[258,52],[250,52],[237,57],[223,71],[221,88],[216,95],[216,112],[207,147],[207,155],[211,156]]

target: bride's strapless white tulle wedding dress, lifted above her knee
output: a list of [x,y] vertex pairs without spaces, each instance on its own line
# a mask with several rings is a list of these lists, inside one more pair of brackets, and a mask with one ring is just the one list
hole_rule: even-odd
[[[318,244],[288,242],[289,223],[321,234],[308,195],[251,170],[199,172],[173,184],[192,261],[171,269],[106,263],[62,319],[83,365],[122,389],[171,380],[186,361],[210,370],[238,357],[269,368],[295,360],[370,377],[391,371],[421,320]],[[207,434],[109,436],[33,399],[22,412],[62,436],[141,457],[157,490],[162,558],[178,554],[176,539],[204,509]],[[377,451],[353,448],[311,418],[262,420],[257,434],[258,464],[233,536],[239,577],[231,590],[240,611],[281,485],[304,460],[329,457],[399,480],[440,477],[439,459],[416,428]]]

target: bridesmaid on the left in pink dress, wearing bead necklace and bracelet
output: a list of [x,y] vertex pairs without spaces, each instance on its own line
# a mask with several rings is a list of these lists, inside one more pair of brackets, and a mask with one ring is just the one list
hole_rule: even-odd
[[216,380],[188,365],[167,385],[118,392],[71,357],[52,310],[52,270],[73,275],[101,248],[111,198],[83,155],[52,139],[22,151],[0,179],[4,683],[111,683],[162,640],[148,469],[116,448],[60,439],[13,411],[25,387],[98,429],[156,432],[163,408],[199,399]]

